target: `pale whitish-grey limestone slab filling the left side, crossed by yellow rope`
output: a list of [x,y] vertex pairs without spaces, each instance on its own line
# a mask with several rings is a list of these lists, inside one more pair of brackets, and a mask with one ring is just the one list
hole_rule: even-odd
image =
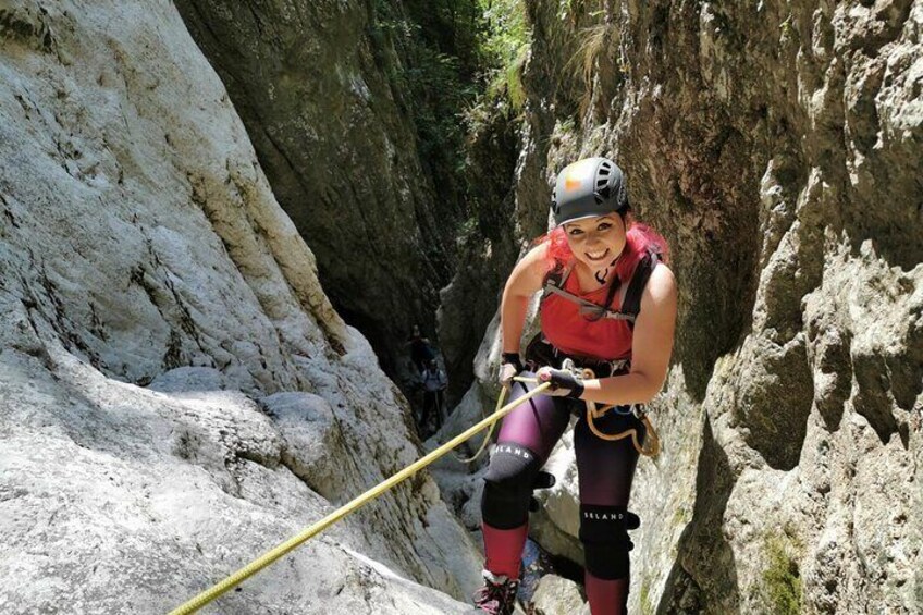
[[[420,455],[171,3],[0,2],[0,611],[162,613]],[[212,607],[453,613],[421,475]]]

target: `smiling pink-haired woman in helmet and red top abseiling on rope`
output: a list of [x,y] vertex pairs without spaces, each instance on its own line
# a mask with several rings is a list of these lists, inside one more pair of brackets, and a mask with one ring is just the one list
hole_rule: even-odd
[[[587,598],[593,615],[615,615],[625,613],[628,601],[628,530],[640,522],[628,511],[639,451],[630,438],[600,434],[635,429],[643,440],[643,415],[632,407],[650,402],[666,379],[676,281],[664,262],[666,242],[633,221],[624,175],[613,161],[567,165],[552,204],[555,229],[516,265],[504,287],[500,370],[514,398],[531,386],[514,381],[516,374],[534,376],[551,389],[503,419],[481,501],[484,587],[475,605],[478,613],[513,613],[532,489],[576,414]],[[541,333],[526,348],[526,370],[519,342],[529,300],[539,291]],[[614,408],[591,420],[587,402]]]

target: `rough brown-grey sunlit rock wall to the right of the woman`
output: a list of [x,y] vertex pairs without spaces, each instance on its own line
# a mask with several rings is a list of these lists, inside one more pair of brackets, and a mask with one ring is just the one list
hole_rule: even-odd
[[526,2],[522,227],[610,156],[680,287],[629,610],[913,613],[923,3],[724,4]]

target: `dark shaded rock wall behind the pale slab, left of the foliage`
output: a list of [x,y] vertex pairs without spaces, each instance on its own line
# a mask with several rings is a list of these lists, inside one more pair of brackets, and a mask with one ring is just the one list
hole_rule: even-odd
[[226,84],[280,205],[317,255],[328,295],[394,373],[411,325],[434,332],[460,217],[417,150],[389,32],[406,22],[377,17],[378,5],[399,15],[401,2],[176,5]]

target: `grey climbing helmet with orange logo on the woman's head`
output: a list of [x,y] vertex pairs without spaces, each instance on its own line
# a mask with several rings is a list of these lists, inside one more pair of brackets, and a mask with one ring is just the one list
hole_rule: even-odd
[[628,207],[622,169],[607,158],[583,158],[557,174],[551,195],[555,224],[605,216]]

